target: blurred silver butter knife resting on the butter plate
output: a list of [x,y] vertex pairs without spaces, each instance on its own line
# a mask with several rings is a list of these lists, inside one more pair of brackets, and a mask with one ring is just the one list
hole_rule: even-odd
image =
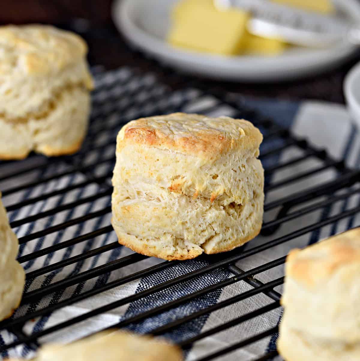
[[213,1],[219,10],[235,7],[250,12],[248,31],[254,35],[313,48],[341,42],[360,45],[360,26],[340,16],[309,13],[266,0]]

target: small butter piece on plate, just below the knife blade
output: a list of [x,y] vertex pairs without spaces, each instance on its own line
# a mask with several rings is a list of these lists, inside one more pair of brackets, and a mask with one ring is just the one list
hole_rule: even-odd
[[278,55],[287,44],[278,39],[265,39],[256,35],[246,34],[244,39],[244,55]]

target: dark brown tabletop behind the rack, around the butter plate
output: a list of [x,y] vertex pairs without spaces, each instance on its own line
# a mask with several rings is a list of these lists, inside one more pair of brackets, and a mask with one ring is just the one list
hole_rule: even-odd
[[[169,80],[159,65],[140,53],[132,51],[126,45],[111,21],[111,3],[111,0],[0,0],[0,23],[50,23],[75,30],[88,42],[91,65],[100,64],[107,69],[123,65],[135,66],[141,70],[155,71],[165,83],[172,87],[182,86],[181,82]],[[280,84],[227,83],[198,78],[190,78],[190,80],[200,80],[203,86],[220,91],[232,91],[258,97],[291,100],[317,99],[344,103],[343,79],[348,70],[359,60],[360,51],[336,70],[316,77]]]

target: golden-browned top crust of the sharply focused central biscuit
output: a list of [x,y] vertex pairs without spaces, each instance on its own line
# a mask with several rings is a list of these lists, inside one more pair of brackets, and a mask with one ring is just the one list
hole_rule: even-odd
[[120,131],[118,140],[120,148],[136,143],[214,159],[232,150],[244,153],[256,150],[262,134],[244,119],[174,113],[129,122]]

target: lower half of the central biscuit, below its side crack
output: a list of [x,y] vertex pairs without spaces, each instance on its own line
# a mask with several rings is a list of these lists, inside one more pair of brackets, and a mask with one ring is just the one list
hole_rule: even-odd
[[111,223],[119,243],[135,252],[187,260],[230,251],[260,232],[262,192],[254,192],[244,205],[222,205],[204,197],[174,195],[161,187],[155,190],[137,191],[135,196],[128,188],[114,187]]

